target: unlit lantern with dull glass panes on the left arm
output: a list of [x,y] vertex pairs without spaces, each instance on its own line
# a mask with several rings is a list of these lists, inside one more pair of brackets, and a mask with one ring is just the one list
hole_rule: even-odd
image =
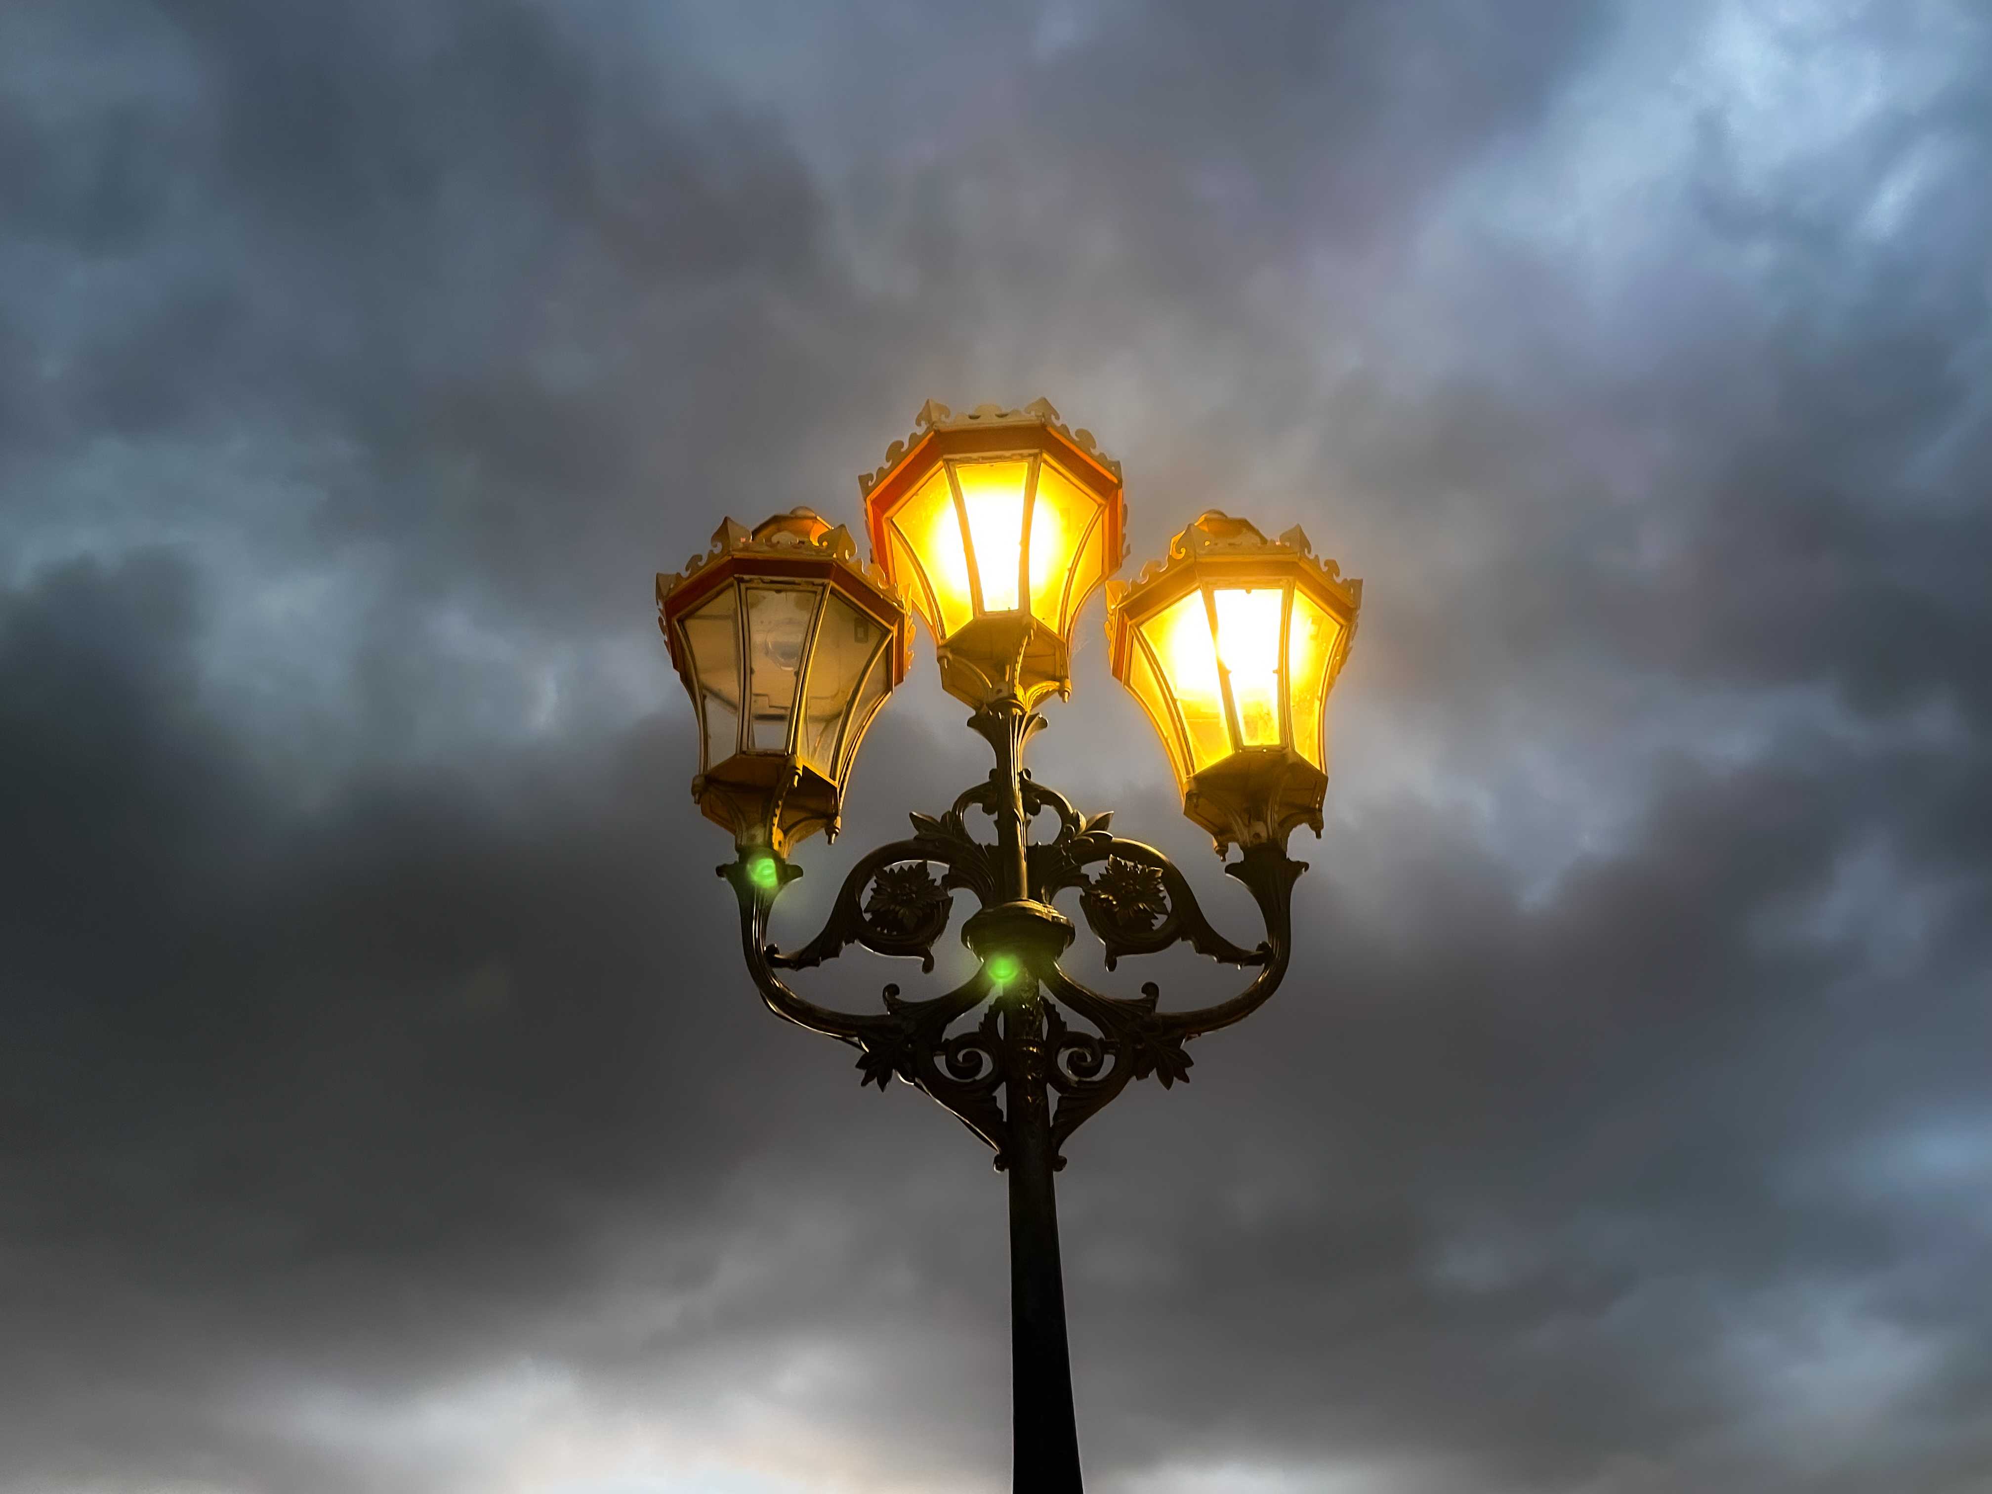
[[906,677],[912,618],[841,524],[807,508],[727,520],[657,578],[657,625],[699,717],[699,809],[779,857],[837,835],[865,729]]

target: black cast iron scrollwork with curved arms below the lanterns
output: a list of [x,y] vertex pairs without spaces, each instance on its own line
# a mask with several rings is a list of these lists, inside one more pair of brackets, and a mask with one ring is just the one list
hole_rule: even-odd
[[[1267,932],[1257,946],[1235,944],[1209,922],[1161,851],[1114,835],[1112,815],[1080,815],[1018,765],[1042,717],[1000,701],[970,725],[996,749],[996,769],[946,813],[912,815],[912,837],[861,857],[823,930],[793,952],[769,944],[767,922],[801,869],[765,851],[743,851],[719,874],[739,896],[747,966],[777,1016],[857,1048],[865,1084],[882,1090],[898,1078],[934,1098],[996,1151],[998,1167],[1006,1165],[1006,1116],[1032,1104],[1024,1092],[1040,1096],[1040,1108],[1056,1096],[1050,1139],[1054,1165],[1064,1165],[1058,1149],[1066,1137],[1129,1082],[1187,1082],[1185,1044],[1243,1020],[1273,994],[1287,972],[1293,882],[1305,863],[1289,861],[1281,845],[1261,843],[1225,867],[1259,904]],[[994,845],[968,833],[970,809],[996,823]],[[1058,829],[1050,841],[1026,845],[1030,823],[1044,811],[1056,815]],[[769,859],[779,874],[763,884],[753,871]],[[1153,982],[1137,996],[1092,990],[1058,960],[1072,924],[1052,900],[1072,888],[1106,948],[1108,970],[1120,958],[1187,942],[1223,964],[1253,968],[1251,982],[1225,1002],[1187,1012],[1161,1010]],[[930,972],[954,892],[970,892],[980,904],[962,940],[982,956],[982,966],[954,990],[906,1000],[898,986],[886,986],[884,1010],[861,1014],[817,1006],[779,974],[823,964],[851,944],[916,958]],[[992,966],[992,950],[1014,950],[1012,968]],[[978,1008],[980,1018],[964,1026]]]

